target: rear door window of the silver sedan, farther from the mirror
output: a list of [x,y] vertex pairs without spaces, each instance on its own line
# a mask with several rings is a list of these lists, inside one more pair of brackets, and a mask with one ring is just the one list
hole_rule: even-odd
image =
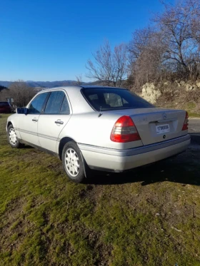
[[63,91],[52,91],[46,103],[45,114],[69,114],[69,104]]

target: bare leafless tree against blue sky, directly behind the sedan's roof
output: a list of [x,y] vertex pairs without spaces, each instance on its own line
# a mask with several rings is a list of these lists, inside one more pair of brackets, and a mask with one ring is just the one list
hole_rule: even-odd
[[89,59],[86,68],[89,73],[88,78],[102,81],[107,86],[121,85],[121,81],[126,76],[127,48],[125,44],[120,44],[111,50],[109,41],[105,41],[98,51],[92,53],[93,61]]

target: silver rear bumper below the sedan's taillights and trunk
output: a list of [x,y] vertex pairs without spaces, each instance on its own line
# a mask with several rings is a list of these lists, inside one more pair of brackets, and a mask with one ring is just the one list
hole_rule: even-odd
[[184,135],[180,138],[128,150],[100,148],[81,143],[79,143],[79,148],[90,168],[121,172],[182,153],[189,144],[190,135]]

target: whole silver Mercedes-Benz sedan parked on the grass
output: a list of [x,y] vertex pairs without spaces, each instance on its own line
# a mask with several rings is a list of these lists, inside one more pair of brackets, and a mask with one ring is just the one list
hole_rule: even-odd
[[89,169],[121,172],[186,150],[186,111],[155,108],[124,88],[67,86],[40,91],[9,116],[11,147],[23,143],[62,160],[71,180]]

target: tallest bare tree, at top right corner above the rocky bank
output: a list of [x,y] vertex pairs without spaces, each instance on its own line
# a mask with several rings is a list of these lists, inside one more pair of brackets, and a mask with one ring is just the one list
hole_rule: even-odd
[[[180,77],[191,78],[196,71],[192,66],[199,64],[199,0],[178,1],[175,6],[164,4],[164,12],[156,15],[154,21],[166,46],[164,63],[171,66]],[[197,68],[196,68],[197,70]]]

